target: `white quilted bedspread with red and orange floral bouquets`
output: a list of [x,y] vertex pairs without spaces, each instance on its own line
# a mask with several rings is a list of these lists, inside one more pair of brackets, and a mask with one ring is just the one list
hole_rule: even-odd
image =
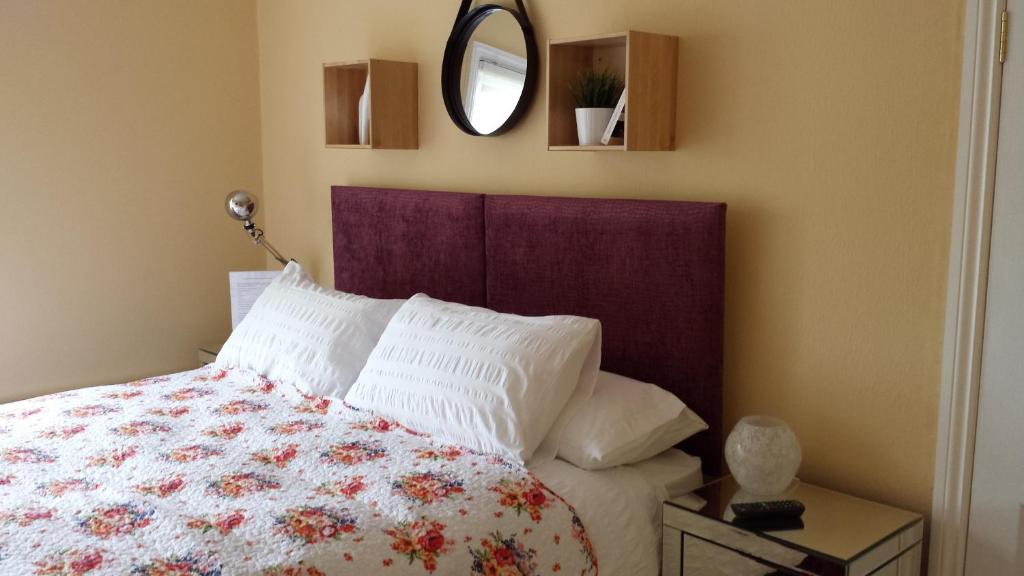
[[529,471],[213,367],[0,405],[0,574],[597,574]]

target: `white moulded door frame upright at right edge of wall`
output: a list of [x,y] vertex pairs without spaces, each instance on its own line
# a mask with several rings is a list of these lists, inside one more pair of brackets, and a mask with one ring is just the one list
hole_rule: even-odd
[[962,576],[967,556],[1002,85],[999,16],[1006,1],[966,0],[964,11],[956,179],[932,493],[932,576]]

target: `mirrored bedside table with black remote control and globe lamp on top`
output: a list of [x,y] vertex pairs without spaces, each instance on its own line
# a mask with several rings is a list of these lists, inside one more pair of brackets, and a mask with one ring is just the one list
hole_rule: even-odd
[[758,532],[732,524],[730,504],[765,500],[725,477],[665,502],[663,576],[918,576],[921,515],[799,483],[804,528]]

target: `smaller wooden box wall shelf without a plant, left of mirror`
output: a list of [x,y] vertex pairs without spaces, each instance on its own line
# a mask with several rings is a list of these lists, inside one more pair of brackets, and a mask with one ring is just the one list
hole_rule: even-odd
[[[327,148],[415,150],[419,142],[418,67],[381,59],[324,65]],[[370,78],[370,143],[359,143],[359,96]]]

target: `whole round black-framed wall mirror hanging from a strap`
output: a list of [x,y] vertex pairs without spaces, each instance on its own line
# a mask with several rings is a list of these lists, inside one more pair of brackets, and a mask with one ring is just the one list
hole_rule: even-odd
[[537,42],[521,0],[518,10],[469,5],[463,1],[444,47],[441,93],[462,131],[497,136],[518,122],[532,99]]

